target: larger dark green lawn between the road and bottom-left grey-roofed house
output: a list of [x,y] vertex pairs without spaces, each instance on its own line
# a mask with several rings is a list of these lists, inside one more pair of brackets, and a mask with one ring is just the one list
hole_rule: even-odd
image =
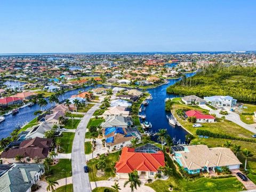
[[46,177],[46,179],[63,179],[72,176],[71,161],[69,159],[59,159],[57,165],[50,166],[52,175]]

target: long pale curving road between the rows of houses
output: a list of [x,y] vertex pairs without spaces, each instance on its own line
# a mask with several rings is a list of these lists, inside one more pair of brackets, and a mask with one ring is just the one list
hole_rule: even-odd
[[95,110],[99,109],[101,103],[94,105],[83,117],[77,126],[75,138],[72,147],[72,174],[73,174],[73,190],[74,192],[89,192],[91,185],[88,173],[84,173],[86,159],[84,154],[84,141],[86,126],[90,121]]

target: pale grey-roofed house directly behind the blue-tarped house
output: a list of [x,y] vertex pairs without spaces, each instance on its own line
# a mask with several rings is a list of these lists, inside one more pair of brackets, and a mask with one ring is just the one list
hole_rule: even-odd
[[105,122],[101,123],[102,128],[107,127],[129,127],[133,124],[131,117],[123,116],[109,116],[105,119]]

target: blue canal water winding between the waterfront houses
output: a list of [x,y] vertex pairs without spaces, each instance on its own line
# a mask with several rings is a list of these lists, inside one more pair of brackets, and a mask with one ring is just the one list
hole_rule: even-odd
[[[195,75],[195,73],[187,73],[186,76],[190,77]],[[176,140],[181,140],[182,142],[185,140],[185,135],[187,132],[183,130],[179,126],[171,126],[167,119],[166,115],[170,115],[170,112],[166,112],[165,108],[165,98],[179,97],[179,95],[166,93],[166,89],[168,86],[173,85],[174,83],[180,81],[180,79],[169,79],[169,84],[164,84],[162,86],[158,86],[154,89],[148,89],[149,93],[152,95],[153,99],[149,101],[149,105],[146,107],[145,114],[147,116],[147,121],[152,124],[152,128],[149,131],[157,132],[159,129],[167,129],[167,132],[171,135],[171,137],[175,137]],[[102,86],[102,85],[98,85]],[[108,86],[109,87],[109,86]],[[80,88],[72,91],[67,91],[59,96],[59,100],[68,99],[71,95],[78,94],[79,91],[88,91],[92,87]],[[48,101],[48,99],[46,99]],[[51,104],[48,103],[46,106],[50,108]],[[18,125],[23,125],[26,122],[30,122],[36,116],[34,112],[40,110],[40,106],[35,104],[31,107],[25,107],[19,109],[19,113],[16,115],[7,115],[5,117],[5,121],[0,123],[0,139],[9,137],[10,133],[17,127]]]

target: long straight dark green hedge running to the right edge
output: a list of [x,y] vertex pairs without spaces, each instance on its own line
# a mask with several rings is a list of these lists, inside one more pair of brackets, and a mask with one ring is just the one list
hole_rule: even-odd
[[227,134],[220,134],[220,133],[212,133],[211,131],[207,131],[207,130],[196,130],[196,134],[213,137],[213,138],[231,139],[231,140],[247,141],[247,142],[255,142],[256,143],[256,139],[234,137],[234,136],[230,136]]

